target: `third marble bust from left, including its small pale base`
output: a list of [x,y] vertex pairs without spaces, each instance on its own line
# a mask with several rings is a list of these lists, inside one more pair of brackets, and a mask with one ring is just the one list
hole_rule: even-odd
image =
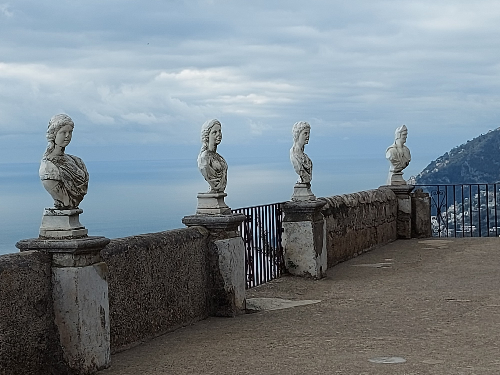
[[293,187],[293,201],[315,200],[310,190],[312,180],[312,161],[304,152],[304,146],[309,142],[310,125],[305,121],[298,121],[291,129],[293,145],[290,148],[290,161],[298,174],[298,180]]

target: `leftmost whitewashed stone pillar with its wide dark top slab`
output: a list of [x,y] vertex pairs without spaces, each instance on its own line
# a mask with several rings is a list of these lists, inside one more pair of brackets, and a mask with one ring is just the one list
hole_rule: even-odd
[[15,244],[51,255],[55,323],[71,373],[94,373],[110,364],[107,266],[99,254],[108,243],[105,237],[84,237]]

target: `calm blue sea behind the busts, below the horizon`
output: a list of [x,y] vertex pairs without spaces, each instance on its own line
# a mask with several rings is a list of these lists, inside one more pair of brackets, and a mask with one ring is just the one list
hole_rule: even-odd
[[[383,157],[315,158],[311,189],[316,196],[376,188],[385,183]],[[193,214],[196,193],[206,191],[196,160],[94,161],[86,163],[88,193],[80,222],[89,235],[109,238],[180,228]],[[50,195],[38,177],[38,163],[0,163],[0,254],[38,235]],[[405,175],[405,177],[409,177]],[[296,174],[289,161],[231,159],[226,203],[231,208],[289,200]]]

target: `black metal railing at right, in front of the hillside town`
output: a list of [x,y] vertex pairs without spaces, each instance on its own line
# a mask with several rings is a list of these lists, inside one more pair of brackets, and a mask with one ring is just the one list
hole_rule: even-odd
[[498,236],[500,183],[415,185],[430,196],[432,234],[437,237]]

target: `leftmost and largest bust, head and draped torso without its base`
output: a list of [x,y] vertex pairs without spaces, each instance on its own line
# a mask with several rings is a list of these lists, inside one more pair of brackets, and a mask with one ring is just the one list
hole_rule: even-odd
[[54,207],[78,207],[87,193],[88,172],[83,161],[64,153],[71,141],[73,120],[67,114],[56,114],[48,122],[47,149],[40,162],[40,179],[45,190],[54,199]]

